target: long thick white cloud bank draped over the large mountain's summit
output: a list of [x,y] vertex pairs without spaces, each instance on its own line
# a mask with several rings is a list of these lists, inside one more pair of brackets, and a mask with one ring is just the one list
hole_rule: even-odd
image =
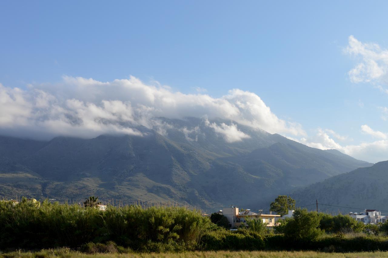
[[[258,95],[239,89],[213,98],[173,92],[155,81],[147,85],[133,76],[110,82],[64,76],[58,84],[29,85],[27,90],[0,85],[2,133],[34,131],[45,137],[141,135],[135,129],[140,125],[166,133],[166,125],[154,119],[161,116],[223,118],[270,133],[305,135],[299,124],[279,119]],[[217,130],[223,135],[229,133],[225,136],[229,142],[246,137],[235,125],[221,125]]]

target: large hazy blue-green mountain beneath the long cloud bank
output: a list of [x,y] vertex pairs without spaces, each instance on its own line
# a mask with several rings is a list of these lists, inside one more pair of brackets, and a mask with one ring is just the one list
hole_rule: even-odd
[[142,136],[0,137],[0,196],[260,208],[279,194],[372,165],[232,121],[155,124],[138,127]]

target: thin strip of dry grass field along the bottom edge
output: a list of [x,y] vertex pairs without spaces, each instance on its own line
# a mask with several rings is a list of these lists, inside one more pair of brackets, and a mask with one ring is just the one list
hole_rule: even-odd
[[80,258],[98,258],[98,257],[133,257],[133,258],[220,258],[220,257],[233,257],[233,258],[246,258],[246,257],[260,257],[260,258],[274,258],[274,257],[333,257],[333,258],[362,258],[362,257],[388,257],[388,252],[362,252],[362,253],[323,253],[315,251],[206,251],[206,252],[184,252],[184,253],[149,253],[149,254],[85,254],[79,252],[69,251],[69,249],[49,249],[42,250],[35,253],[31,252],[10,252],[10,253],[0,253],[0,257],[80,257]]

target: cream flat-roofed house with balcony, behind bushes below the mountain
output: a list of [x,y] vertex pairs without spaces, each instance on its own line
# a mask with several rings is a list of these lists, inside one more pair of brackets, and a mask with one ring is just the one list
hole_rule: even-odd
[[263,214],[261,211],[257,213],[251,210],[239,211],[239,208],[236,206],[223,208],[220,212],[228,219],[231,228],[240,227],[241,225],[248,227],[246,222],[251,219],[262,220],[263,223],[267,224],[267,227],[274,227],[279,224],[275,222],[275,218],[279,218],[280,215],[272,214],[272,212],[270,214]]

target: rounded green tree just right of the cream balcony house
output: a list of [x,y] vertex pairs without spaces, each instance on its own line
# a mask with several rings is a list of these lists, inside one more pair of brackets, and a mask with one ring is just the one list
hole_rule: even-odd
[[316,212],[306,209],[296,210],[291,219],[282,227],[283,234],[294,241],[313,241],[321,233],[319,229],[319,216]]

